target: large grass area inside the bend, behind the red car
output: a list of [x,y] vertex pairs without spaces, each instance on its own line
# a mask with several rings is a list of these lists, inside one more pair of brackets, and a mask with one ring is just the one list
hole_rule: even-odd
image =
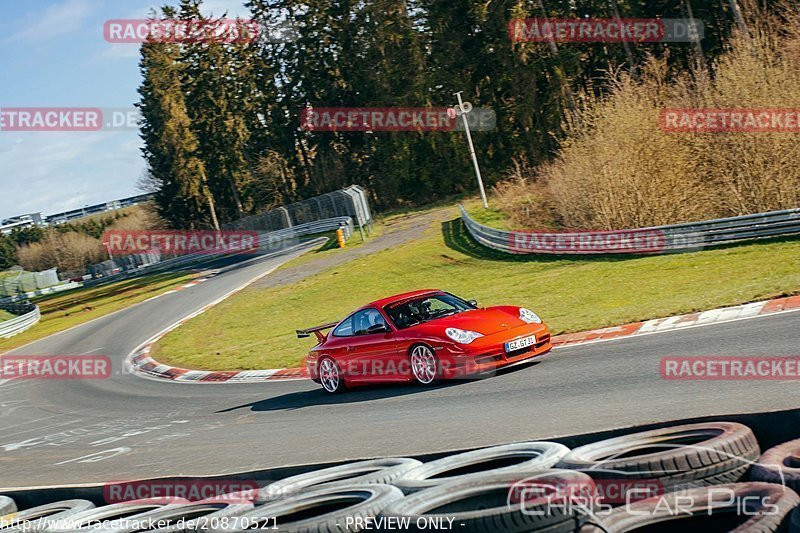
[[798,257],[797,239],[652,257],[512,256],[475,244],[454,220],[294,285],[245,289],[164,337],[153,355],[209,370],[298,366],[313,342],[295,329],[419,288],[525,305],[554,333],[581,331],[800,292]]

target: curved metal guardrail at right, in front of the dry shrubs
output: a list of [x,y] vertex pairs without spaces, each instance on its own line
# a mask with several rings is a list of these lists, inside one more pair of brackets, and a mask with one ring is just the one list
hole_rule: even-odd
[[707,246],[800,235],[800,209],[618,231],[507,231],[476,222],[464,206],[461,219],[473,239],[513,254],[658,254]]

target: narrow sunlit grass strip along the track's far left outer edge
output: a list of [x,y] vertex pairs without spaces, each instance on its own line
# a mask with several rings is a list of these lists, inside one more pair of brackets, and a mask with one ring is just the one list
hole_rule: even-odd
[[197,277],[195,273],[151,274],[92,288],[78,288],[34,299],[42,319],[31,329],[8,339],[0,339],[0,353],[53,333],[83,324],[94,318],[130,307],[166,292]]

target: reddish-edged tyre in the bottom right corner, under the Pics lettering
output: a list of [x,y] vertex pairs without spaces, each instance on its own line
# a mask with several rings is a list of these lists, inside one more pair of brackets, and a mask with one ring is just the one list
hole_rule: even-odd
[[[743,501],[748,502],[747,513],[737,507]],[[580,532],[625,533],[663,526],[665,522],[670,531],[675,531],[684,525],[681,521],[688,522],[684,527],[692,531],[781,531],[798,504],[800,496],[780,485],[729,483],[717,485],[713,490],[691,489],[635,502],[612,511],[600,524],[585,526]]]

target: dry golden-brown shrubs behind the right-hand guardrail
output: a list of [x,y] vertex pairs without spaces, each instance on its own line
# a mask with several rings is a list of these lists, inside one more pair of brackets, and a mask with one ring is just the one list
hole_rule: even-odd
[[552,162],[515,164],[497,185],[498,206],[530,229],[546,226],[542,217],[624,229],[797,207],[797,134],[667,132],[659,117],[664,108],[797,108],[798,18],[756,19],[708,70],[676,78],[666,60],[650,59],[638,80],[609,75],[606,97],[583,95]]

